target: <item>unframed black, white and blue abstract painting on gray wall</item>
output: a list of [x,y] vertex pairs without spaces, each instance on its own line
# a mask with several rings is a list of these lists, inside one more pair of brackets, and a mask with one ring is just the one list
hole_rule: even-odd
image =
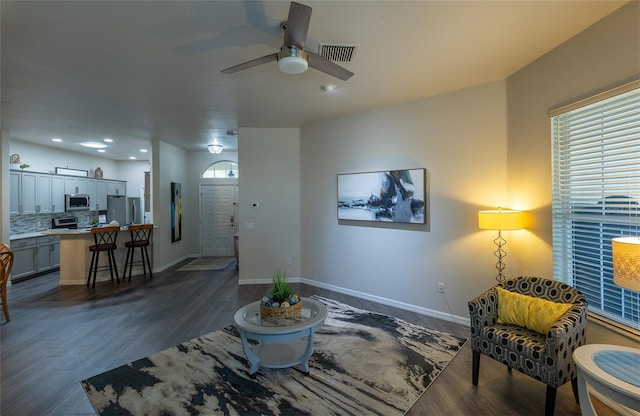
[[338,219],[425,224],[426,169],[338,174]]

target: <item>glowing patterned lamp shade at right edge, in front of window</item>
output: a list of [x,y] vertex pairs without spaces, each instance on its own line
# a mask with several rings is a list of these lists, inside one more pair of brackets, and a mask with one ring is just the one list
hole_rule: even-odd
[[611,240],[613,283],[640,292],[640,237]]

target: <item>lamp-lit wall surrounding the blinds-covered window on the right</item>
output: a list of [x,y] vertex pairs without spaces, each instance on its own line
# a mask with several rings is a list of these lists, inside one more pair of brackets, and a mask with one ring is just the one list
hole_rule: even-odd
[[[512,247],[524,270],[553,276],[549,111],[639,76],[640,3],[630,2],[508,78],[509,197],[531,211],[535,236]],[[629,343],[595,324],[587,338]]]

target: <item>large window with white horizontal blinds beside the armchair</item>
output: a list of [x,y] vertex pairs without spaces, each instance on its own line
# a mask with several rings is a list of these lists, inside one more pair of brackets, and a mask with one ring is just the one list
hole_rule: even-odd
[[640,294],[613,283],[611,239],[640,235],[640,82],[551,116],[554,278],[637,331]]

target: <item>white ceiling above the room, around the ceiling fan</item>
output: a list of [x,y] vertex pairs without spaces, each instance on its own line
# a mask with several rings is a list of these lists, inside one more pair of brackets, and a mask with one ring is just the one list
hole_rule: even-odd
[[220,72],[279,50],[288,1],[2,0],[2,128],[90,153],[78,143],[109,137],[102,156],[116,160],[148,159],[150,139],[236,150],[238,127],[299,127],[504,79],[626,1],[301,3],[313,8],[307,49],[358,45],[341,64],[348,81],[275,62]]

